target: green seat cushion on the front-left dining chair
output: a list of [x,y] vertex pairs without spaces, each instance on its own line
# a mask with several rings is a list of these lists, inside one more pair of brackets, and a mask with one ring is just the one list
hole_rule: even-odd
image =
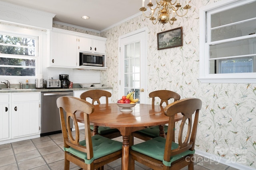
[[[86,146],[85,140],[79,142],[80,145]],[[109,138],[100,136],[98,134],[92,136],[92,147],[93,147],[93,158],[91,160],[87,159],[87,154],[85,152],[78,151],[74,148],[65,148],[64,150],[70,152],[71,154],[84,159],[86,164],[90,164],[94,159],[98,159],[102,156],[106,156],[118,150],[122,150],[122,142],[116,140],[111,140]]]

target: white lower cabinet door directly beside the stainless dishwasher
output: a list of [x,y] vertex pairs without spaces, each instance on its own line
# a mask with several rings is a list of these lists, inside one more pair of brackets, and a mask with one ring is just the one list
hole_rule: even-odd
[[12,93],[12,138],[40,134],[40,95]]

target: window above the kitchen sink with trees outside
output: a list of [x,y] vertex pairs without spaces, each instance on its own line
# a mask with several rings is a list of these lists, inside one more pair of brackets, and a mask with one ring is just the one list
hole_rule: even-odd
[[0,33],[0,75],[35,76],[37,38]]

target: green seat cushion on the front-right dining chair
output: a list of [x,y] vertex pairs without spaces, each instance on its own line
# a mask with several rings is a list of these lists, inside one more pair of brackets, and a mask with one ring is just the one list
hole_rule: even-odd
[[[140,152],[144,155],[150,156],[156,160],[163,161],[163,163],[166,166],[170,166],[172,162],[188,155],[188,154],[194,154],[194,151],[188,150],[185,152],[182,152],[178,155],[172,156],[170,159],[170,162],[164,161],[164,147],[165,147],[166,139],[158,136],[156,138],[153,138],[151,140],[147,140],[145,142],[135,144],[131,148],[132,150],[135,150],[136,152]],[[172,142],[172,150],[178,148],[178,144],[175,142]]]

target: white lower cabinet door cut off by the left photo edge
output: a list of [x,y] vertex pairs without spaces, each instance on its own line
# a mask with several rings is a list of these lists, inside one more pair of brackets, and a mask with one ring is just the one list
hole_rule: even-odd
[[10,93],[0,94],[0,141],[10,139]]

